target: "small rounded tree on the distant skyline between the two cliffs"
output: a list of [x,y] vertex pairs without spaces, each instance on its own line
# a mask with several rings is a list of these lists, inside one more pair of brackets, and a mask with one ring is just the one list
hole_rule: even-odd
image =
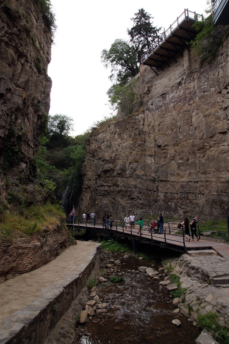
[[62,136],[68,136],[73,129],[73,118],[62,114],[49,115],[47,127],[50,135],[58,133]]

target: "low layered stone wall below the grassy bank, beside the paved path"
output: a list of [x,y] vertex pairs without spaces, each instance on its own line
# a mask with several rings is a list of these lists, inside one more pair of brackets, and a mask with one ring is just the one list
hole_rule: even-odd
[[59,220],[57,224],[44,226],[42,235],[0,242],[0,283],[20,273],[40,268],[70,245],[68,230]]

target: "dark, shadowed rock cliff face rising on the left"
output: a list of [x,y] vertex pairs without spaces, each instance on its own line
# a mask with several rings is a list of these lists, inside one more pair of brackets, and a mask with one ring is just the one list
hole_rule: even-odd
[[35,0],[0,0],[0,28],[0,196],[4,198],[8,171],[27,182],[34,176],[32,158],[50,108],[51,34]]

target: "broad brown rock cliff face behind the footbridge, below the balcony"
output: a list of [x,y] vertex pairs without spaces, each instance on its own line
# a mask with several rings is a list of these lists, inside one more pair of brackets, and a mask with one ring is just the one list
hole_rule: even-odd
[[159,76],[141,66],[143,111],[127,118],[119,112],[88,144],[81,211],[228,214],[228,49],[229,40],[202,67],[185,50]]

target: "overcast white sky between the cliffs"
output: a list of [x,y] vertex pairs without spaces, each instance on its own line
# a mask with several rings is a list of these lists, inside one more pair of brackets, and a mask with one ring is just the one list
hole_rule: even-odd
[[117,38],[127,39],[130,18],[139,8],[152,14],[154,25],[172,24],[184,8],[204,14],[206,0],[75,1],[52,0],[58,26],[48,75],[53,80],[50,114],[74,119],[72,135],[109,116],[106,92],[110,70],[100,62],[101,51]]

